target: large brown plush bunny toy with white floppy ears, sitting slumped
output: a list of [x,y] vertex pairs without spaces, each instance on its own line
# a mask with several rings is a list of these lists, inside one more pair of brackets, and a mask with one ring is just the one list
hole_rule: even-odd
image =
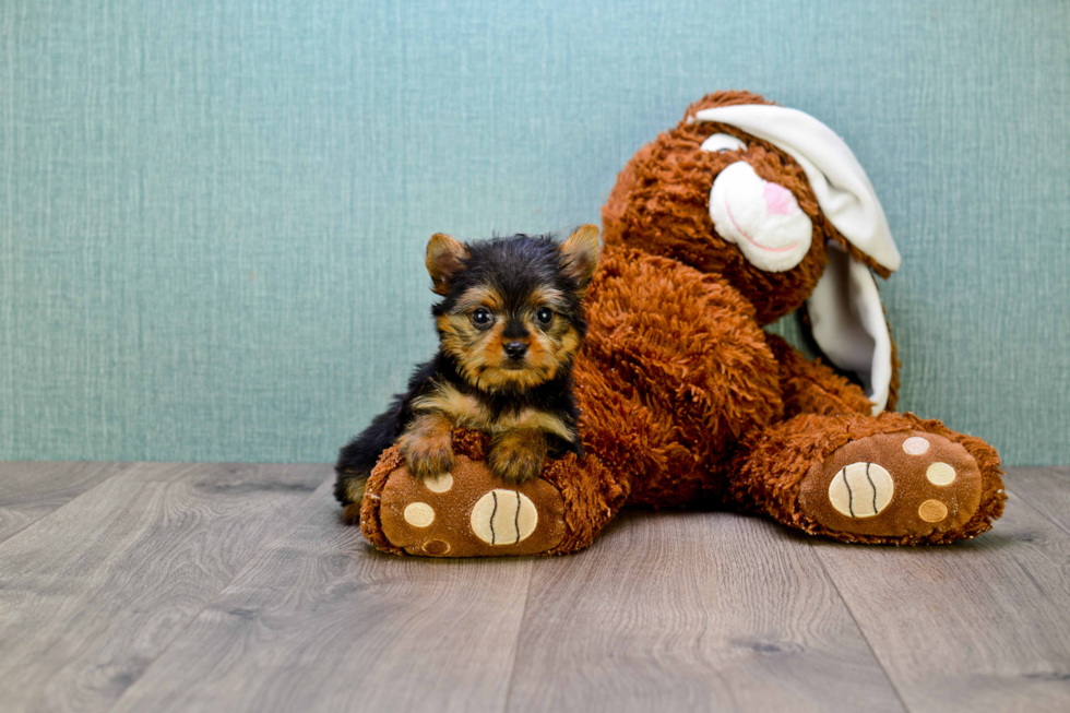
[[[359,512],[378,547],[566,554],[626,504],[723,504],[899,545],[974,537],[1002,513],[991,445],[891,411],[897,361],[873,273],[900,257],[827,126],[710,95],[629,162],[603,222],[574,369],[585,456],[507,486],[483,463],[486,437],[457,430],[452,474],[425,483],[391,448]],[[763,331],[801,307],[839,372]]]

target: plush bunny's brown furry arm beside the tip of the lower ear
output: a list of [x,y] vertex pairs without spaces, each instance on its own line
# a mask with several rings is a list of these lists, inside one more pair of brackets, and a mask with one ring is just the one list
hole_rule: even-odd
[[784,417],[799,414],[869,414],[872,403],[861,387],[841,377],[821,361],[811,361],[776,334],[766,333],[781,368]]

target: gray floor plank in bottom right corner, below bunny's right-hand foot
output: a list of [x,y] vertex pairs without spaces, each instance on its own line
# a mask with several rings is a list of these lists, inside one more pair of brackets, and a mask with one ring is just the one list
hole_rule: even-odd
[[815,549],[912,711],[1070,711],[1070,535],[1013,492],[974,540]]

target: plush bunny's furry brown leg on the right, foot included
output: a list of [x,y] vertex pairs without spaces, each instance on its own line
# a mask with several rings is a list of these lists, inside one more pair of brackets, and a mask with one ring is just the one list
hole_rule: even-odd
[[745,439],[729,497],[845,542],[974,537],[1003,510],[999,455],[913,414],[800,415]]

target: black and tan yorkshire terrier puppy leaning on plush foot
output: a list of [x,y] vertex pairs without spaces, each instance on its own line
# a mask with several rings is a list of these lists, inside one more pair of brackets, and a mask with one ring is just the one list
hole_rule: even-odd
[[[518,235],[427,245],[439,352],[408,391],[338,453],[335,496],[359,503],[379,454],[396,442],[417,478],[453,467],[451,431],[491,438],[487,464],[507,483],[536,477],[547,455],[583,455],[572,396],[572,359],[586,332],[582,300],[598,264],[598,228],[560,246]],[[347,510],[347,518],[356,512]]]

